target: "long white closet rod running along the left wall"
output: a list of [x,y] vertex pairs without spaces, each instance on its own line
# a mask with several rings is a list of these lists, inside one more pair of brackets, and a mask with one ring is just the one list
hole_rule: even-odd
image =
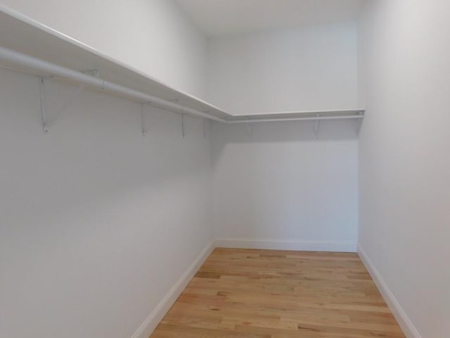
[[41,60],[39,58],[34,58],[33,56],[19,53],[18,51],[13,51],[11,49],[7,49],[2,46],[0,46],[0,60],[7,61],[9,63],[14,63],[16,65],[21,65],[25,68],[30,68],[34,71],[49,73],[51,75],[56,75],[59,77],[65,77],[75,82],[79,82],[80,84],[85,84],[86,86],[89,87],[107,89],[111,92],[115,92],[116,94],[128,96],[141,103],[155,104],[157,106],[161,106],[162,108],[166,108],[169,111],[174,111],[175,113],[195,115],[202,118],[208,118],[210,120],[216,120],[224,123],[227,122],[222,118],[217,118],[216,116],[210,115],[208,113],[196,111],[195,109],[184,107],[174,102],[167,101],[165,99],[160,99],[156,96],[144,94],[142,92],[138,92],[137,90],[121,86],[120,84],[115,84],[113,82],[103,80],[99,77],[87,75],[78,72],[76,70],[72,70],[70,68],[65,68],[63,66],[56,65],[54,63],[50,63]]

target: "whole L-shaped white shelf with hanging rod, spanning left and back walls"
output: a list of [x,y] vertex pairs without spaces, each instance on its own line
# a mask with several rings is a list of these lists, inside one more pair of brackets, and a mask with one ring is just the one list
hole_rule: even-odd
[[[364,109],[233,115],[0,4],[0,66],[56,75],[141,103],[224,123],[363,118]],[[82,72],[98,70],[99,77]],[[103,85],[106,84],[106,85]]]

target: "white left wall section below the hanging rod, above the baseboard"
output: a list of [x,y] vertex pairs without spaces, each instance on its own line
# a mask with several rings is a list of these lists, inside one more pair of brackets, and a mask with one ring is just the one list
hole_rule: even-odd
[[[213,239],[203,121],[0,69],[0,337],[127,338]],[[172,295],[173,296],[173,295]]]

